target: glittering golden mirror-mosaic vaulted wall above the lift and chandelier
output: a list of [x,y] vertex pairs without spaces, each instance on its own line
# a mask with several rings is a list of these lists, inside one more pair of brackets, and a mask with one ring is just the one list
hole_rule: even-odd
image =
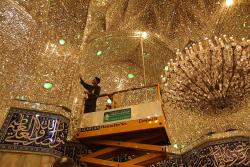
[[9,99],[21,98],[68,106],[77,126],[79,73],[99,76],[103,92],[157,83],[177,48],[224,33],[249,38],[248,9],[246,0],[230,8],[217,0],[1,0],[1,123]]

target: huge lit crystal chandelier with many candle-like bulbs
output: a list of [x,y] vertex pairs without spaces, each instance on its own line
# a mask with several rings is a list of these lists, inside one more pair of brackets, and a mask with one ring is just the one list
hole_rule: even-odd
[[177,51],[162,76],[163,100],[179,108],[222,110],[250,95],[250,40],[205,39]]

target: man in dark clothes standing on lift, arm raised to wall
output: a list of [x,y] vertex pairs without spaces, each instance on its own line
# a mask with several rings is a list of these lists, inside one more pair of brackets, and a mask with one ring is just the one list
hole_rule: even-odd
[[81,84],[82,86],[87,90],[84,91],[88,97],[85,100],[85,109],[84,109],[84,113],[90,113],[90,112],[95,112],[96,111],[96,101],[97,98],[100,95],[101,92],[101,87],[98,86],[98,84],[100,83],[100,78],[95,77],[92,81],[92,85],[89,85],[87,83],[85,83],[82,78],[80,77],[81,80]]

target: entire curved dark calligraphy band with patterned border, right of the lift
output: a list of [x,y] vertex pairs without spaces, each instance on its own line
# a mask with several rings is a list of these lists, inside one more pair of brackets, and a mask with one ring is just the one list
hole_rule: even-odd
[[148,167],[243,167],[250,166],[250,140],[235,138],[210,142],[184,155],[167,158]]

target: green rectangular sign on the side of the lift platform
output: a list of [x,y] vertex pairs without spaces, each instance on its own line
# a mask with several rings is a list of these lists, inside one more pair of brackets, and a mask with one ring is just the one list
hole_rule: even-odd
[[131,108],[104,113],[103,122],[112,122],[131,118]]

